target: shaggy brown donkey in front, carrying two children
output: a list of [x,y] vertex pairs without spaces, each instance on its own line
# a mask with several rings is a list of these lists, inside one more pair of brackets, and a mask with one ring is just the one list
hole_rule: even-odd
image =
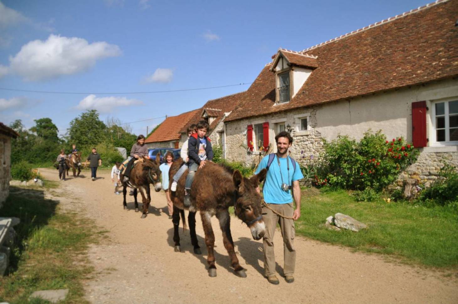
[[[169,171],[170,180],[180,168],[182,159],[177,160]],[[216,277],[215,256],[213,247],[215,236],[211,223],[211,217],[216,215],[219,221],[219,227],[223,232],[224,247],[228,251],[232,267],[235,274],[239,277],[246,277],[245,269],[240,266],[239,259],[235,255],[234,241],[230,232],[230,215],[229,206],[234,206],[235,215],[240,218],[251,230],[253,239],[261,239],[265,233],[266,227],[261,214],[261,195],[256,191],[256,187],[266,177],[266,169],[250,179],[242,177],[240,171],[232,170],[223,165],[207,162],[207,164],[197,170],[194,182],[191,187],[191,212],[199,211],[202,225],[205,232],[205,244],[207,245],[208,257],[208,275]],[[178,235],[178,224],[180,216],[177,208],[184,209],[183,198],[186,173],[178,181],[176,192],[171,192],[170,196],[174,203],[173,223],[174,223],[174,241],[175,251],[180,250],[180,236]],[[190,224],[191,242],[196,247],[197,239],[192,231]],[[198,246],[198,245],[197,245]],[[177,250],[178,247],[178,250]]]

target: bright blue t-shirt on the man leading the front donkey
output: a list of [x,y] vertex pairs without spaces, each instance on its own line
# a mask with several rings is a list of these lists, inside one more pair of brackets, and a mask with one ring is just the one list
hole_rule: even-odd
[[[291,163],[292,158],[290,157],[280,157],[280,167],[278,167],[278,157],[273,158],[273,162],[270,164],[269,169],[267,170],[266,181],[264,182],[264,188],[262,189],[262,194],[264,195],[264,201],[269,204],[289,204],[293,202],[293,196],[291,190],[284,191],[281,188],[282,177],[283,182],[288,185],[293,185],[295,180],[303,179],[304,175],[300,171],[299,164],[296,162],[296,169],[294,170],[293,163]],[[262,158],[261,163],[259,163],[258,168],[256,169],[255,174],[258,174],[262,169],[267,168],[267,163],[269,161],[269,156]],[[287,163],[289,162],[289,179],[288,179],[288,167]],[[295,160],[294,160],[295,162]],[[280,176],[281,169],[281,176]]]

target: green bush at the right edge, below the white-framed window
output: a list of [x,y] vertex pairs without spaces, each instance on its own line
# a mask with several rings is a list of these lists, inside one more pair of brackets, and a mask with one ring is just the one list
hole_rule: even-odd
[[457,168],[444,164],[439,177],[429,188],[420,192],[417,201],[425,205],[458,206]]

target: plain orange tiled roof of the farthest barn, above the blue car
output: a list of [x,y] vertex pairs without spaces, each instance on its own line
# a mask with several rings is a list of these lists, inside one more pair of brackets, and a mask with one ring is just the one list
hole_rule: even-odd
[[201,109],[167,117],[161,125],[159,125],[158,129],[148,136],[145,143],[179,140],[181,136],[180,130],[198,113],[201,113]]

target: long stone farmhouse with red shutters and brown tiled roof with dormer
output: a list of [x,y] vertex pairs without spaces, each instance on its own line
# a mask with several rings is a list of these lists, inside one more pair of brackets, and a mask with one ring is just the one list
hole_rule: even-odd
[[278,49],[224,118],[225,157],[253,154],[288,130],[292,156],[371,129],[421,154],[408,172],[434,179],[458,165],[458,0],[438,0],[301,51]]

